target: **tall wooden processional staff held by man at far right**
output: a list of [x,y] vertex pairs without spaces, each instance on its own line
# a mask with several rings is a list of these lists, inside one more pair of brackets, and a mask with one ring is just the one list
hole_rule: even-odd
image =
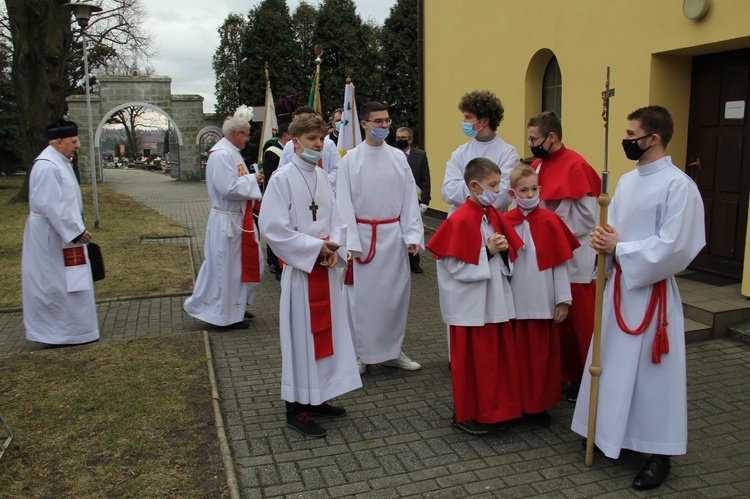
[[[602,119],[604,120],[604,171],[602,171],[602,193],[599,196],[599,225],[607,226],[607,209],[609,208],[609,99],[615,95],[615,89],[609,88],[609,66],[607,82],[602,92]],[[594,445],[596,438],[596,409],[599,399],[599,376],[602,366],[599,364],[599,352],[602,341],[602,306],[604,305],[604,274],[607,256],[599,253],[596,260],[596,306],[594,308],[594,336],[591,346],[591,395],[589,398],[589,424],[586,438],[586,466],[594,464]]]

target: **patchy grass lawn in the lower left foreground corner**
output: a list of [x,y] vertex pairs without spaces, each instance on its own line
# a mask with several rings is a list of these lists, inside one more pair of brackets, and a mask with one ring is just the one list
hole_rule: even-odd
[[200,333],[9,355],[0,497],[228,497]]

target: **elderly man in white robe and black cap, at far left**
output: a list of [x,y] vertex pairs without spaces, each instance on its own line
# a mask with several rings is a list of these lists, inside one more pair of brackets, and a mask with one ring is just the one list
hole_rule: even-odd
[[21,287],[26,338],[49,345],[80,345],[99,339],[94,281],[83,223],[83,200],[71,159],[78,126],[47,127],[49,146],[29,174],[29,218],[23,233]]

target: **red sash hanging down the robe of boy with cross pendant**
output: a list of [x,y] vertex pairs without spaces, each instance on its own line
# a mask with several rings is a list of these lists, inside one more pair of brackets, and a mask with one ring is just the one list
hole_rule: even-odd
[[310,331],[315,345],[315,360],[333,355],[333,326],[331,295],[328,288],[328,267],[313,265],[307,275],[307,294],[310,304]]

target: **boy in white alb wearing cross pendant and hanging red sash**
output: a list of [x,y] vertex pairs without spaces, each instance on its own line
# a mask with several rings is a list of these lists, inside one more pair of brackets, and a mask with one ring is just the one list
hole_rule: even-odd
[[346,226],[325,172],[316,165],[326,137],[323,119],[289,126],[296,155],[268,184],[260,229],[284,262],[279,302],[281,398],[287,426],[310,437],[326,430],[315,416],[341,417],[327,400],[362,386],[339,279],[346,266]]

